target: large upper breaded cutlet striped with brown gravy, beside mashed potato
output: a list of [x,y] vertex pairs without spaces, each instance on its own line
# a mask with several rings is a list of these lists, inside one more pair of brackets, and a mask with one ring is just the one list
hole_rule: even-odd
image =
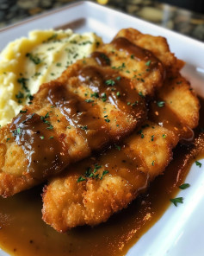
[[[33,104],[0,130],[0,195],[45,181],[145,120],[144,98],[162,86],[165,63],[137,46],[134,33],[116,36],[58,80],[40,86]],[[168,46],[164,54],[176,61]]]

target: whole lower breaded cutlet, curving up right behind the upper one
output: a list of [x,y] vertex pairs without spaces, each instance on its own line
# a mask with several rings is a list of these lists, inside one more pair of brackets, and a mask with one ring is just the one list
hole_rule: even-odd
[[120,147],[85,159],[49,182],[43,194],[46,223],[65,232],[71,227],[107,221],[164,172],[179,140],[192,139],[199,101],[180,74],[171,75],[158,90],[156,99],[160,100],[151,103],[149,119],[157,123],[143,124]]

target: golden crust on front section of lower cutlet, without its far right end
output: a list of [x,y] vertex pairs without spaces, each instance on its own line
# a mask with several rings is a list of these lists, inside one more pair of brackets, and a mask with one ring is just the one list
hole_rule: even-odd
[[[141,129],[143,137],[134,134],[127,138],[120,151],[108,150],[94,161],[84,160],[67,170],[65,176],[54,178],[44,189],[43,220],[65,232],[71,227],[97,225],[126,208],[164,171],[178,140],[173,132],[158,125],[145,124]],[[96,172],[99,178],[77,182],[88,163],[92,170],[100,166]],[[101,179],[104,170],[108,174]]]

